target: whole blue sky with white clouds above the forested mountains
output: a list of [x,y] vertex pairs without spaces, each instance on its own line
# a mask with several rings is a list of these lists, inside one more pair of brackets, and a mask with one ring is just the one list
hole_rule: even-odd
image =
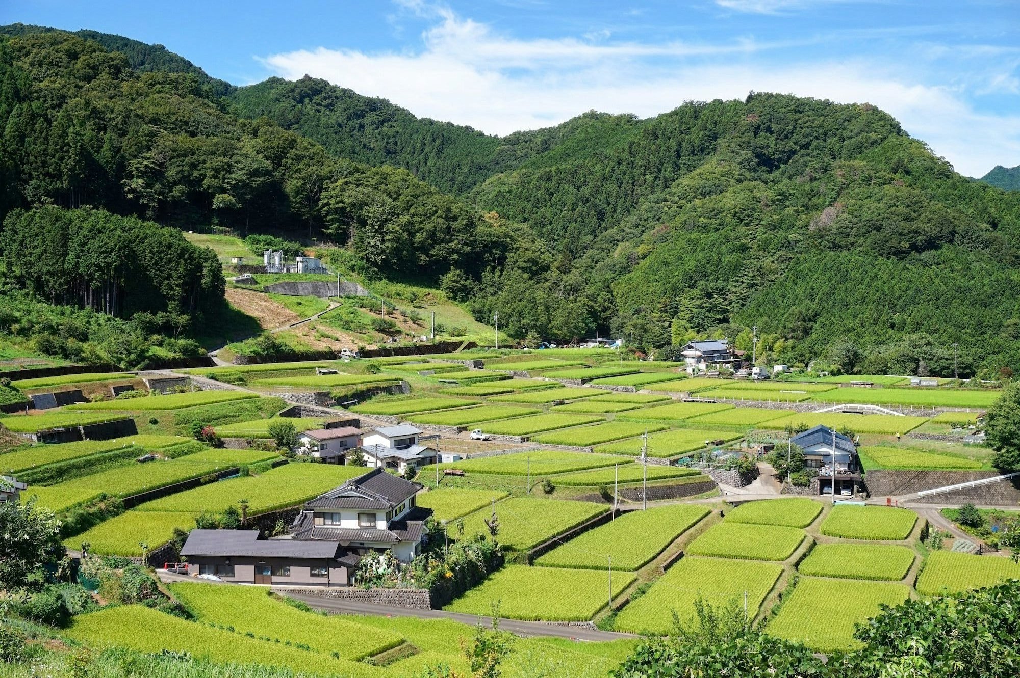
[[870,102],[968,175],[1020,165],[1020,0],[7,0],[0,23],[305,73],[490,133],[782,92]]

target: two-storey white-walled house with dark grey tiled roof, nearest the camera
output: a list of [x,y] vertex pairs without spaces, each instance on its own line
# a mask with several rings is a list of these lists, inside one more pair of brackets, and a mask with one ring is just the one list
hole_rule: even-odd
[[291,526],[293,539],[340,542],[364,556],[392,551],[402,563],[421,552],[430,509],[415,504],[422,489],[381,468],[348,481],[306,503]]

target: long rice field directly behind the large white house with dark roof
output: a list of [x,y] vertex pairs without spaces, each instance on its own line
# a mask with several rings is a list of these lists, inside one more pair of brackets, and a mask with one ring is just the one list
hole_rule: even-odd
[[247,499],[249,513],[255,515],[277,508],[296,506],[368,470],[358,466],[333,464],[287,464],[260,475],[220,481],[146,502],[134,510],[218,513],[227,506],[236,505],[239,499]]

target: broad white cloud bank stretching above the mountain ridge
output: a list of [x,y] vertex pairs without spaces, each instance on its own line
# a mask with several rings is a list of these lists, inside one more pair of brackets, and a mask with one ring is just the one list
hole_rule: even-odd
[[[420,11],[428,7],[405,4]],[[755,90],[874,104],[971,176],[998,164],[1020,164],[1020,115],[975,112],[958,91],[907,80],[902,63],[889,66],[896,70],[865,60],[777,65],[763,54],[789,43],[752,40],[724,45],[518,40],[443,7],[431,11],[439,21],[422,35],[420,51],[319,48],[263,61],[286,78],[322,77],[390,99],[416,115],[488,133],[549,126],[591,109],[648,117],[684,101],[743,98]]]

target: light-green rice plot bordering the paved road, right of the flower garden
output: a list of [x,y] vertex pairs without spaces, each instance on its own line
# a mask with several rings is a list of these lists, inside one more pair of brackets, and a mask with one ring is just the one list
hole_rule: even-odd
[[[634,576],[614,573],[613,596],[630,585]],[[492,614],[537,621],[585,621],[609,603],[609,576],[596,570],[509,565],[446,606],[444,610]]]

